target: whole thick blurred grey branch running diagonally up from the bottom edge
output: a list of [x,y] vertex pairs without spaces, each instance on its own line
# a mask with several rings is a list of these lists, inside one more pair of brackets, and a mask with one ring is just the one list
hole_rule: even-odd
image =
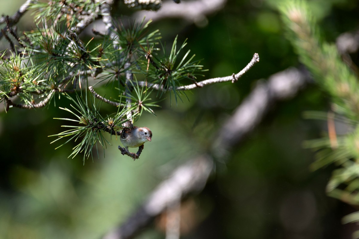
[[217,141],[211,147],[213,156],[205,154],[176,168],[172,176],[160,183],[133,215],[104,239],[132,238],[155,216],[171,207],[178,200],[178,195],[184,197],[202,190],[213,169],[214,157],[228,156],[228,150],[260,123],[269,106],[293,97],[309,78],[306,70],[289,68],[272,75],[267,82],[259,82],[219,130],[215,137]]

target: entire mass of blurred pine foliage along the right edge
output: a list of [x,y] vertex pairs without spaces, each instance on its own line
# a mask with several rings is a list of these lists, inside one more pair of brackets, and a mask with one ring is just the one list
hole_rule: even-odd
[[[333,114],[311,112],[307,117],[328,120],[327,137],[309,140],[306,147],[318,150],[318,169],[335,163],[339,166],[327,185],[327,193],[352,205],[359,205],[359,84],[358,78],[341,60],[334,44],[320,39],[320,32],[306,1],[286,1],[280,7],[288,39],[292,42],[300,60],[311,71],[314,80],[332,96]],[[349,130],[336,135],[334,120],[344,121]],[[359,212],[346,216],[343,221],[358,222]],[[354,235],[359,238],[359,231]]]

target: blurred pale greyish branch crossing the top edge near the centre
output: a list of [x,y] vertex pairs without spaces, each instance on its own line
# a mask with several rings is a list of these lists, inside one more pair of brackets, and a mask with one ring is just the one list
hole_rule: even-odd
[[158,21],[163,18],[182,18],[194,23],[201,23],[206,15],[222,9],[227,0],[192,0],[181,1],[180,4],[167,1],[158,11],[140,11],[134,14],[134,19],[148,19]]

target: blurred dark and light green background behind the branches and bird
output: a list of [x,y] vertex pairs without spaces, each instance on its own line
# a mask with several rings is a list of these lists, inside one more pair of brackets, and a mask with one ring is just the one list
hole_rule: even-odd
[[[0,0],[1,13],[12,15],[23,2]],[[100,152],[85,162],[82,156],[67,158],[74,144],[55,150],[58,144],[47,136],[63,130],[64,122],[53,118],[69,116],[58,109],[68,102],[46,110],[2,109],[0,238],[99,238],[126,220],[176,166],[205,151],[258,80],[300,65],[285,39],[278,2],[228,1],[202,27],[182,19],[151,24],[162,42],[171,44],[177,34],[180,42],[188,38],[187,49],[209,69],[202,80],[237,73],[255,52],[261,61],[234,85],[196,89],[189,102],[171,107],[167,99],[155,109],[157,117],[144,114],[137,125],[149,127],[153,140],[135,162],[120,154],[116,138],[105,157]],[[309,2],[328,42],[358,28],[357,0]],[[27,13],[18,29],[31,29],[31,18]],[[0,46],[6,47],[4,40]],[[303,111],[326,111],[328,101],[309,85],[273,105],[230,159],[216,164],[204,190],[186,200],[192,223],[183,238],[351,238],[353,225],[342,225],[341,217],[354,209],[325,195],[334,166],[311,172],[313,153],[302,147],[326,130],[323,122],[304,120]],[[105,114],[113,110],[103,107]],[[137,238],[164,238],[160,228],[161,220],[155,220]]]

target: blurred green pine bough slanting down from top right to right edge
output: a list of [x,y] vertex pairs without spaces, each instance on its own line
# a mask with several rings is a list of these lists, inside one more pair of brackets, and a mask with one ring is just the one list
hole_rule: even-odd
[[334,44],[322,42],[316,21],[305,1],[290,1],[280,7],[288,38],[300,61],[314,80],[333,97],[336,111],[351,119],[359,117],[359,85],[344,64]]

